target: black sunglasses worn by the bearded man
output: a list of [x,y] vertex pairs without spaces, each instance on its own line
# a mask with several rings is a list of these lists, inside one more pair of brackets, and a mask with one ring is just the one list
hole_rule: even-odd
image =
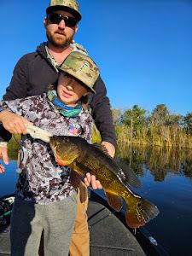
[[59,24],[61,20],[65,21],[66,26],[76,26],[78,24],[78,20],[71,16],[56,14],[56,13],[50,13],[48,16],[48,20],[51,23]]

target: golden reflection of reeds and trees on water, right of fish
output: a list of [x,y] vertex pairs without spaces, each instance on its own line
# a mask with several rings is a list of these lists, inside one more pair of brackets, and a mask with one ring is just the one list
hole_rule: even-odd
[[144,176],[147,168],[154,176],[155,181],[164,181],[167,173],[170,172],[192,178],[191,153],[191,149],[186,148],[152,148],[126,145],[118,148],[117,157],[130,165],[139,176]]

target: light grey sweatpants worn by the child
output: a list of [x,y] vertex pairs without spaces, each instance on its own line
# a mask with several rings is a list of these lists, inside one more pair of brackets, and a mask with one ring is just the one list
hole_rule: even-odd
[[15,199],[11,216],[11,255],[38,256],[44,230],[44,256],[67,256],[76,207],[76,193],[49,205]]

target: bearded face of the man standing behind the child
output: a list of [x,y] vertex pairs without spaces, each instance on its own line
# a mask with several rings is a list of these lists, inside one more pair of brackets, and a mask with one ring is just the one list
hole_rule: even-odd
[[[74,18],[72,14],[67,13],[66,11],[57,10],[54,11],[54,13]],[[66,48],[71,44],[74,34],[78,31],[78,25],[67,26],[64,20],[61,20],[59,24],[55,24],[45,18],[44,26],[49,43],[56,48]]]

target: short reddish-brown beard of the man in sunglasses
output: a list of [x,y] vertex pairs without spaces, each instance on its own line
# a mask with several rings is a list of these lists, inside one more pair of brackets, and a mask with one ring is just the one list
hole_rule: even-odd
[[56,31],[54,33],[46,31],[47,38],[50,44],[55,46],[55,48],[67,48],[69,44],[73,41],[74,33],[71,36],[67,36],[66,33],[61,31]]

